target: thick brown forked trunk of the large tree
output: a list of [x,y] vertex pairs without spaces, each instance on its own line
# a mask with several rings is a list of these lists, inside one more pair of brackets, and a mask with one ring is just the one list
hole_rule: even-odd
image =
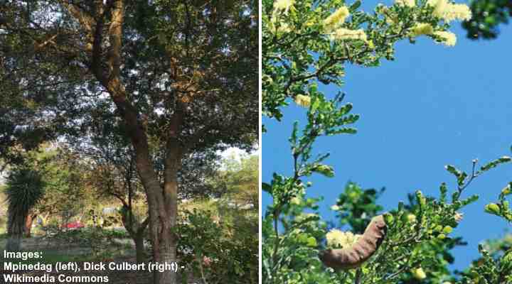
[[[102,6],[101,1],[99,3]],[[65,4],[65,6],[70,11],[70,14],[85,28],[88,38],[92,38],[90,70],[110,94],[112,101],[119,111],[119,116],[124,121],[127,136],[132,141],[132,146],[135,150],[135,165],[137,166],[148,202],[149,232],[153,245],[153,260],[158,263],[169,264],[176,262],[176,236],[171,232],[171,229],[176,224],[178,204],[177,173],[181,165],[182,155],[178,135],[182,122],[181,111],[183,109],[178,104],[175,114],[171,119],[170,138],[166,143],[167,155],[164,186],[162,187],[149,153],[146,129],[138,118],[139,111],[129,102],[126,89],[121,82],[120,66],[124,1],[107,1],[107,5],[99,9],[100,13],[97,13],[95,21],[87,18],[73,4]],[[111,16],[110,21],[105,21],[107,16]],[[102,50],[102,33],[105,23],[109,22],[107,34],[110,46],[107,52],[104,53],[104,50]],[[104,55],[106,55],[106,58],[104,58]],[[108,65],[107,68],[100,64],[100,62],[105,61]],[[154,283],[176,284],[176,273],[174,271],[155,271]]]

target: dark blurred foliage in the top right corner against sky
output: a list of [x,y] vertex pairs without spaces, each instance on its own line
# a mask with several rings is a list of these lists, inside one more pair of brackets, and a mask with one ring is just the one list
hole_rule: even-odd
[[512,16],[510,0],[473,0],[471,1],[471,20],[462,27],[471,39],[493,39],[499,34],[498,26],[508,23]]

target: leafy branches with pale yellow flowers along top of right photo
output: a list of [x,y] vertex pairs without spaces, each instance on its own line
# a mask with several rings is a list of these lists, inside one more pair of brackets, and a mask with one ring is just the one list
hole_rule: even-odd
[[447,31],[447,21],[439,23],[425,1],[417,6],[379,5],[373,13],[358,11],[356,1],[348,9],[350,21],[338,26],[361,29],[363,39],[336,39],[336,30],[324,24],[344,1],[280,1],[291,4],[284,11],[274,9],[273,2],[262,2],[262,111],[277,120],[282,118],[280,108],[289,104],[287,98],[320,97],[318,83],[341,86],[346,64],[373,67],[380,60],[393,60],[393,45],[404,38],[414,42],[418,23],[432,27],[432,33],[425,35],[451,45],[439,36]]

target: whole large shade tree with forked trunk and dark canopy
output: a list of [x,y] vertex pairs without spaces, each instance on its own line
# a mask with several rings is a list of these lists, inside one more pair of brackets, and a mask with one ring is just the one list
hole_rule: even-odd
[[[256,137],[257,2],[7,1],[2,12],[2,89],[70,134],[81,130],[75,115],[115,109],[146,193],[154,261],[176,261],[182,158]],[[165,153],[163,186],[149,137]],[[154,283],[176,275],[156,272]]]

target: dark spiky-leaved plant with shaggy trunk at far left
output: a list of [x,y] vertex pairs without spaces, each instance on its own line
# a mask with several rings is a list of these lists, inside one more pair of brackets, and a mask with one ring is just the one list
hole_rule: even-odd
[[9,175],[6,185],[9,235],[6,250],[18,251],[28,213],[43,197],[44,181],[37,170],[19,168]]

